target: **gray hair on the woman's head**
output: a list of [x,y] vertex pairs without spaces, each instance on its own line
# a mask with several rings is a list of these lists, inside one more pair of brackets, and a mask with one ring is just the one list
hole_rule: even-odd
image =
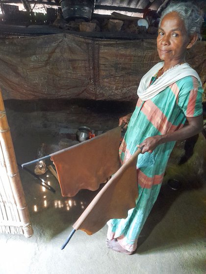
[[203,23],[203,17],[200,13],[200,9],[192,2],[173,2],[163,10],[160,18],[159,25],[166,14],[171,12],[177,12],[180,18],[185,24],[185,28],[188,35],[197,33],[201,40],[201,26]]

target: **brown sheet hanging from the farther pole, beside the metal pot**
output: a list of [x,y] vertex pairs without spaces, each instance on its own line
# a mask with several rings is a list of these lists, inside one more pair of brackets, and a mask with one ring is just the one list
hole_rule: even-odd
[[120,168],[121,127],[51,154],[62,196],[73,197],[80,189],[97,190]]

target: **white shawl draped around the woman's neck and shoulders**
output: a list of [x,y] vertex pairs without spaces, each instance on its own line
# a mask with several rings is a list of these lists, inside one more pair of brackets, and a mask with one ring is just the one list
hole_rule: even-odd
[[184,63],[180,66],[170,68],[165,74],[157,78],[156,81],[149,87],[152,76],[154,76],[155,73],[163,67],[163,65],[164,62],[157,63],[142,77],[137,89],[137,95],[143,101],[152,99],[159,92],[165,90],[167,87],[186,76],[194,76],[202,85],[197,72],[191,68],[189,64]]

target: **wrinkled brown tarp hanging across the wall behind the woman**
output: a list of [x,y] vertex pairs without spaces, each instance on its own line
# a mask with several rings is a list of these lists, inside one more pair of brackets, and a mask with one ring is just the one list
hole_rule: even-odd
[[[103,40],[65,33],[2,39],[0,86],[4,99],[130,101],[137,98],[141,77],[159,61],[155,39]],[[206,41],[192,47],[186,61],[206,91]]]

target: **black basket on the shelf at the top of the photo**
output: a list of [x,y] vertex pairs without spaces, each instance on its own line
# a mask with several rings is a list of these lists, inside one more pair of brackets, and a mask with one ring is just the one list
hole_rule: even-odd
[[81,18],[90,21],[94,9],[94,0],[61,0],[63,17],[65,20]]

